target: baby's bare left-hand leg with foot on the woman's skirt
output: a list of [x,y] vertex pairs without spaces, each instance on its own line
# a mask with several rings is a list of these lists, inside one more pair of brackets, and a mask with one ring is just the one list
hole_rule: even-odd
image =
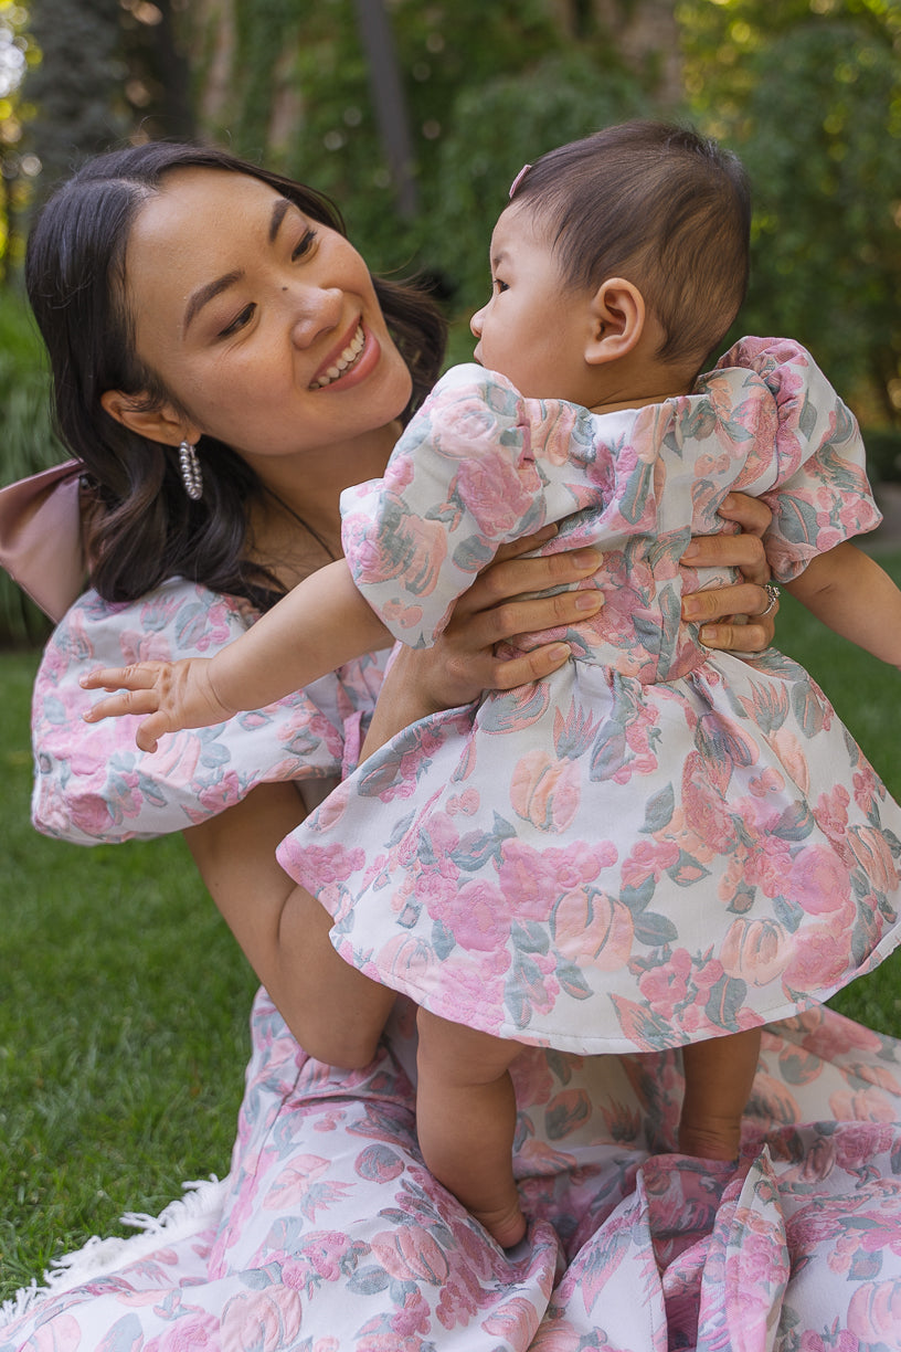
[[508,1067],[523,1051],[419,1011],[416,1124],[423,1159],[500,1245],[525,1233],[513,1182],[516,1101]]

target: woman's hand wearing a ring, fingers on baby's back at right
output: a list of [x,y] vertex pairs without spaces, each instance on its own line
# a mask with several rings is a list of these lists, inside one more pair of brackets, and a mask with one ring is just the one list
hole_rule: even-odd
[[743,580],[684,596],[682,619],[701,622],[698,637],[706,648],[759,653],[773,642],[779,608],[766,591],[770,565],[762,539],[773,512],[759,498],[729,493],[719,514],[736,522],[742,533],[696,535],[682,561],[692,568],[738,568]]

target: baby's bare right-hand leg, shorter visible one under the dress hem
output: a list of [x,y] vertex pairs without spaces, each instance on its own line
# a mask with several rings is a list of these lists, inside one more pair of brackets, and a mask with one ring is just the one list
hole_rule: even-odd
[[712,1037],[682,1049],[685,1102],[679,1151],[706,1160],[733,1160],[739,1153],[742,1114],[761,1052],[761,1030]]

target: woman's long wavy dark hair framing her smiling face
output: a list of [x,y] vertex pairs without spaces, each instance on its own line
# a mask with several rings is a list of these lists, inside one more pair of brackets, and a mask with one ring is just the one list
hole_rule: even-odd
[[[107,600],[135,600],[181,575],[265,608],[284,588],[244,558],[249,506],[263,492],[254,470],[230,446],[201,438],[204,493],[192,502],[177,449],[123,427],[100,402],[105,391],[120,389],[146,395],[147,410],[165,400],[177,406],[135,352],[126,247],[142,203],[168,173],[188,168],[259,178],[311,219],[346,234],[335,204],[312,188],[223,150],[150,142],[91,160],[50,197],[28,239],[26,284],[50,356],[55,426],[93,489],[86,552],[96,589]],[[407,418],[440,372],[444,320],[423,292],[373,281],[413,379]]]

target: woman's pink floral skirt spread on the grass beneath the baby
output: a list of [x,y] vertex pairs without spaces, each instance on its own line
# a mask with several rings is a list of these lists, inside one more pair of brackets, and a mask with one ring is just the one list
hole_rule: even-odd
[[[400,1000],[373,1065],[339,1072],[261,991],[215,1209],[0,1317],[0,1352],[901,1345],[897,1042],[829,1010],[765,1030],[738,1169],[671,1153],[678,1053],[527,1049],[515,1168],[530,1232],[504,1252],[423,1168],[412,1030]],[[874,1072],[871,1115],[829,1121]]]

